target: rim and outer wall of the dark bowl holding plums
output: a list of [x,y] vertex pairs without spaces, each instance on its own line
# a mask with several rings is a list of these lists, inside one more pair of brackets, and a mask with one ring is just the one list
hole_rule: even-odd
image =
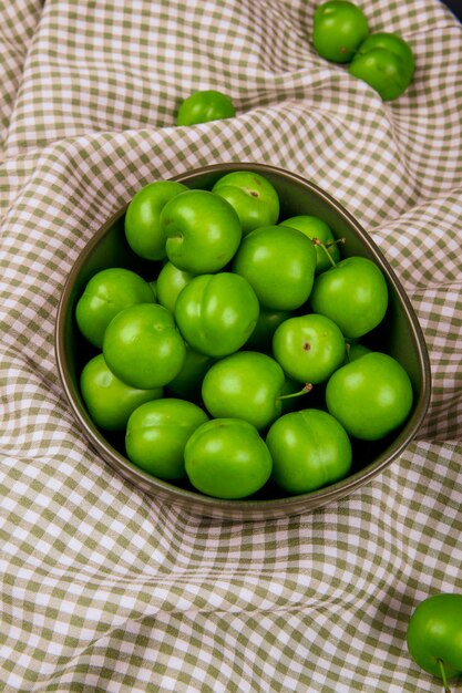
[[66,280],[63,285],[61,296],[57,309],[55,330],[54,330],[54,353],[59,377],[64,394],[70,404],[72,414],[78,421],[85,434],[89,444],[103,457],[114,470],[130,482],[137,489],[145,492],[150,496],[165,500],[167,504],[176,504],[178,507],[187,509],[193,515],[202,517],[215,517],[222,519],[239,519],[242,521],[254,521],[261,519],[275,519],[278,517],[287,517],[298,515],[300,513],[309,513],[317,508],[329,505],[333,500],[340,500],[349,496],[357,488],[368,484],[383,468],[389,466],[397,457],[401,455],[403,449],[411,443],[421,426],[427,414],[431,397],[431,369],[430,358],[424,340],[423,331],[417,318],[412,303],[404,291],[401,281],[398,279],[394,270],[380,250],[373,238],[371,238],[358,220],[329,193],[324,190],[317,184],[299,174],[292,173],[285,168],[253,162],[228,162],[211,164],[195,169],[187,169],[183,173],[170,177],[170,180],[178,183],[191,182],[193,177],[204,175],[225,174],[232,170],[248,170],[255,173],[274,174],[283,177],[296,185],[310,189],[318,198],[333,209],[336,214],[342,217],[353,229],[353,232],[365,242],[368,250],[376,257],[379,265],[383,267],[388,281],[393,286],[398,293],[399,300],[405,311],[408,324],[411,330],[411,338],[414,343],[415,354],[419,362],[420,371],[420,399],[415,403],[410,421],[404,424],[403,430],[398,434],[391,444],[391,452],[387,449],[380,453],[366,467],[358,469],[353,474],[335,484],[330,484],[317,490],[294,496],[284,496],[279,498],[243,498],[243,499],[223,499],[206,496],[199,492],[194,492],[177,487],[174,484],[164,482],[150,475],[143,469],[136,467],[124,457],[115,447],[113,447],[96,428],[90,420],[83,403],[74,397],[75,386],[70,376],[68,360],[65,354],[65,317],[66,309],[71,300],[71,292],[81,268],[86,262],[93,248],[106,235],[107,230],[125,214],[129,203],[113,214],[85,244],[83,249],[73,263]]

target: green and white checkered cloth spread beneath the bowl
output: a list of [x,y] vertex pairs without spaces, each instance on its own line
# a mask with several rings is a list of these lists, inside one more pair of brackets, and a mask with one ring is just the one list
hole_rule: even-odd
[[[0,687],[4,693],[401,693],[442,686],[405,647],[462,592],[462,28],[437,0],[362,0],[417,58],[382,103],[310,45],[315,0],[0,4]],[[237,116],[175,127],[182,99]],[[53,352],[65,278],[144,184],[218,162],[302,175],[351,211],[419,316],[418,438],[348,499],[201,519],[89,446]]]

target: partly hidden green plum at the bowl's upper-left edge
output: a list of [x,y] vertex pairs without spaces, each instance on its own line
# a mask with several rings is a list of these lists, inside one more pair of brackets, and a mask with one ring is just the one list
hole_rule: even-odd
[[161,211],[168,200],[188,188],[175,180],[156,180],[138,190],[125,213],[125,237],[136,255],[147,260],[163,260],[165,235]]

